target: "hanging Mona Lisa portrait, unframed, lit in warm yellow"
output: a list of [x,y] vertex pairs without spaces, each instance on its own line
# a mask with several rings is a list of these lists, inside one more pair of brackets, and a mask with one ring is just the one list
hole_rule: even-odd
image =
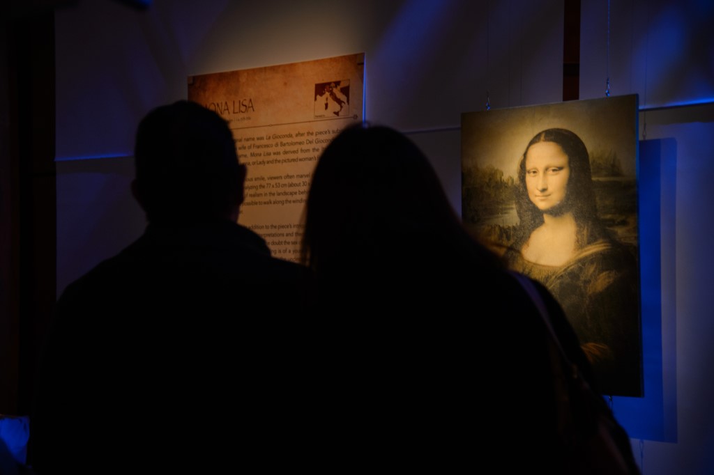
[[641,397],[638,96],[461,116],[464,224],[565,311],[603,395]]

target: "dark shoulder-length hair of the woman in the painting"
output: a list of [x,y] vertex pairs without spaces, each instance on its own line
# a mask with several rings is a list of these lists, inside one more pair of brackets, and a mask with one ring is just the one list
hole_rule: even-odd
[[548,128],[535,134],[528,142],[526,150],[523,151],[521,162],[518,164],[516,213],[518,213],[521,224],[516,235],[516,249],[520,249],[533,230],[543,224],[543,211],[538,209],[528,198],[528,188],[526,187],[526,155],[531,145],[540,142],[558,144],[565,155],[568,155],[570,177],[565,189],[565,200],[558,206],[563,212],[573,213],[577,227],[576,245],[578,248],[582,248],[602,239],[607,235],[607,232],[598,218],[588,149],[580,137],[572,131],[565,128]]

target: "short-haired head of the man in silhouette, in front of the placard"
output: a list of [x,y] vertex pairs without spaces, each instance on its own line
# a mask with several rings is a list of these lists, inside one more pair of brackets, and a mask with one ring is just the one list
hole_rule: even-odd
[[228,123],[189,101],[155,108],[139,123],[134,197],[151,223],[237,220],[245,165]]

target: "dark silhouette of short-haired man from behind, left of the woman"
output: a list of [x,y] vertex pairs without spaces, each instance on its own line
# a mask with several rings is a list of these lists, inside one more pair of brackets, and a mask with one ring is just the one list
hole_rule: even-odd
[[312,275],[236,223],[246,167],[228,123],[161,106],[134,155],[148,225],[56,304],[31,419],[38,475],[233,466],[304,343]]

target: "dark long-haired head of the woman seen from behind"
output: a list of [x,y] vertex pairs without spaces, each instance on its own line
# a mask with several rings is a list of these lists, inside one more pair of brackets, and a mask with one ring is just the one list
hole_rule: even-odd
[[305,211],[301,261],[318,277],[440,253],[493,258],[463,228],[426,155],[385,126],[351,126],[331,141]]

